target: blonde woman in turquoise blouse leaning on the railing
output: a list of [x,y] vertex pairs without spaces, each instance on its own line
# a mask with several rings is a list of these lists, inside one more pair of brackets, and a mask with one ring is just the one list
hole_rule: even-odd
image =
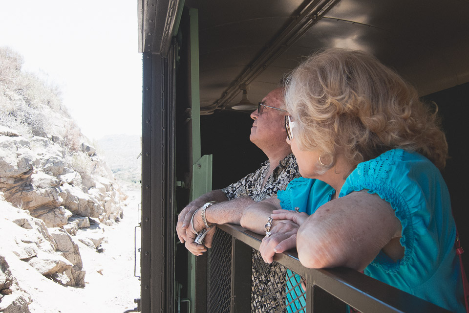
[[[464,312],[456,226],[440,174],[448,145],[435,107],[374,57],[343,49],[300,64],[285,100],[287,142],[303,178],[277,201],[257,204],[273,211],[264,260],[297,246],[305,267],[364,270]],[[276,224],[289,222],[298,227],[277,234]],[[258,224],[248,208],[241,225],[261,232]]]

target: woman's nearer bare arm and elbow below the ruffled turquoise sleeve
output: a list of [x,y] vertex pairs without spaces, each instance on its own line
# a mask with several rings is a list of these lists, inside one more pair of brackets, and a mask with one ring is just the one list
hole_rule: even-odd
[[[308,268],[362,270],[401,235],[391,205],[376,194],[352,192],[322,205],[299,227],[298,257]],[[399,245],[402,251],[404,248]]]

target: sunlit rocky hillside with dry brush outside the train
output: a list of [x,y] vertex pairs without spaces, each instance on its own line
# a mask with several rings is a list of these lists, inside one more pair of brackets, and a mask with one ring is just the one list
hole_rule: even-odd
[[[16,277],[83,287],[79,243],[99,252],[126,195],[62,106],[59,91],[0,47],[0,312],[31,312]],[[90,230],[98,231],[90,231]],[[34,286],[33,286],[34,287]]]

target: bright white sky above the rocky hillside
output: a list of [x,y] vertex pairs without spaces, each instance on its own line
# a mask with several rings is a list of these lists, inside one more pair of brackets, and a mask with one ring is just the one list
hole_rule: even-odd
[[83,134],[141,134],[137,1],[0,0],[0,46],[47,73]]

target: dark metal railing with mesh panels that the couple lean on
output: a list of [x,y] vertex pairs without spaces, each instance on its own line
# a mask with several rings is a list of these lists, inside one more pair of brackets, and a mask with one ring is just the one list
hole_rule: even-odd
[[208,252],[208,313],[344,313],[347,306],[362,313],[449,312],[349,268],[304,268],[294,252],[266,264],[258,252],[261,235],[218,227]]

